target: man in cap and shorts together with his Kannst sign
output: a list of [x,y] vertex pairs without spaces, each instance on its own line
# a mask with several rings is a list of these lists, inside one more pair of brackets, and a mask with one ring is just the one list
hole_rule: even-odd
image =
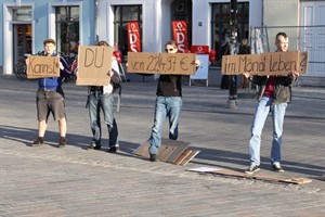
[[[37,90],[37,116],[38,116],[38,139],[34,141],[32,146],[43,144],[43,137],[48,127],[48,118],[50,113],[53,114],[54,120],[58,123],[60,141],[57,146],[62,148],[66,144],[66,115],[65,115],[65,100],[62,89],[62,80],[65,76],[70,74],[66,61],[55,52],[55,41],[51,38],[43,41],[44,51],[43,56],[52,56],[50,64],[32,62],[34,59],[28,60],[27,67],[32,71],[35,75],[39,75],[38,90]],[[52,62],[53,60],[53,62]],[[34,64],[35,63],[35,64]],[[58,75],[54,71],[61,69]],[[54,76],[55,74],[55,76]],[[46,75],[44,77],[42,77]]]

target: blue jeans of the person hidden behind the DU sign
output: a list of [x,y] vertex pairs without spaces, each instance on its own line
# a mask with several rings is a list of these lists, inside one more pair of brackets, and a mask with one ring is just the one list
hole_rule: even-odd
[[100,92],[90,92],[89,94],[89,117],[90,128],[93,135],[92,142],[96,145],[101,144],[102,127],[101,127],[101,110],[104,113],[104,120],[108,128],[109,146],[117,143],[118,129],[113,115],[114,95],[113,93],[102,94]]

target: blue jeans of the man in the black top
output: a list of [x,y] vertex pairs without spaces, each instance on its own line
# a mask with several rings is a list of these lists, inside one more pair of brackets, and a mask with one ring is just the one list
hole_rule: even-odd
[[150,153],[157,154],[161,144],[162,125],[166,117],[169,118],[169,139],[177,140],[179,136],[179,119],[182,110],[181,97],[157,97],[155,106],[155,119],[150,138]]

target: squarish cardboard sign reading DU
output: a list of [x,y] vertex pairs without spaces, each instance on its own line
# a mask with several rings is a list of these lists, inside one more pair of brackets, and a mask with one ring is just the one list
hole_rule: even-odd
[[79,46],[78,86],[107,86],[112,69],[112,47]]

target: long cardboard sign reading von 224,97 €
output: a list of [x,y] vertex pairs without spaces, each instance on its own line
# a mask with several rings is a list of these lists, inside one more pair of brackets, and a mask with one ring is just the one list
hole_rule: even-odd
[[194,53],[128,52],[128,73],[193,75],[195,72]]

